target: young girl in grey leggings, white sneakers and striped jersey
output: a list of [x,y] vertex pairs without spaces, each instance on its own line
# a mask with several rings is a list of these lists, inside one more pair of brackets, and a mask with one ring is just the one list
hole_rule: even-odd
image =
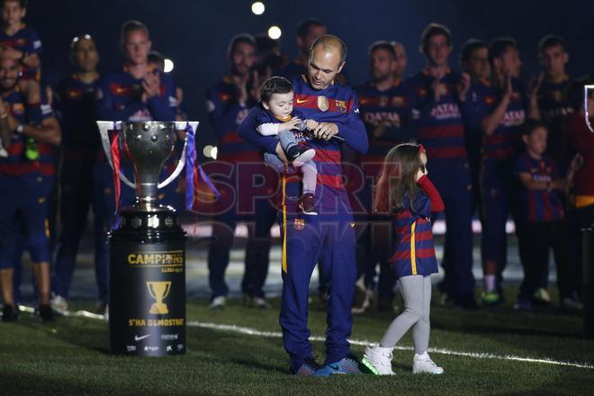
[[405,309],[392,321],[380,344],[365,349],[362,362],[374,374],[394,374],[392,349],[410,328],[415,347],[412,373],[444,373],[427,353],[431,274],[437,273],[429,217],[443,211],[444,202],[427,177],[426,164],[422,145],[400,144],[385,157],[377,184],[375,210],[394,216],[397,237],[390,262],[400,281]]

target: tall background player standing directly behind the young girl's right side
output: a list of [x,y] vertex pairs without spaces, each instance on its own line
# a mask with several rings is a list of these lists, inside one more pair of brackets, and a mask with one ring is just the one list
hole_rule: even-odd
[[428,152],[428,170],[446,202],[446,241],[442,292],[462,308],[476,308],[473,276],[471,173],[464,142],[464,121],[458,92],[461,76],[448,66],[452,52],[450,31],[430,23],[421,34],[428,61],[407,80],[411,124]]

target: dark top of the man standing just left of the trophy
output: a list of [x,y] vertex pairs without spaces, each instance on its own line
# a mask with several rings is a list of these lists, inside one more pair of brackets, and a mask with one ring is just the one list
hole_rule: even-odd
[[76,164],[91,163],[97,157],[101,142],[97,130],[96,98],[101,88],[97,78],[86,84],[73,74],[56,86],[56,110],[62,127],[64,160]]

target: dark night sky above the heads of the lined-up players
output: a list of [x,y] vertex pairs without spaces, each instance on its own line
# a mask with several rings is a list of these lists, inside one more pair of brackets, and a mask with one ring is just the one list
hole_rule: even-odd
[[[236,33],[266,32],[276,24],[283,30],[281,46],[289,58],[297,55],[295,31],[303,19],[315,16],[329,32],[347,42],[347,76],[352,84],[367,77],[367,47],[374,40],[399,40],[409,54],[407,75],[424,65],[418,50],[419,35],[431,22],[444,23],[453,34],[451,65],[458,68],[465,40],[491,40],[511,36],[518,40],[528,79],[538,68],[536,45],[547,33],[562,35],[568,43],[568,71],[580,76],[594,68],[591,29],[592,1],[469,1],[342,0],[299,2],[269,0],[266,13],[251,13],[245,0],[30,0],[25,22],[37,29],[43,41],[43,79],[55,84],[70,72],[70,40],[81,33],[94,36],[101,56],[100,70],[121,65],[121,23],[138,19],[148,24],[153,49],[175,62],[173,71],[184,88],[184,105],[190,119],[202,121],[199,144],[212,143],[211,126],[204,111],[206,89],[227,73],[226,47]],[[199,151],[200,152],[200,151]]]

